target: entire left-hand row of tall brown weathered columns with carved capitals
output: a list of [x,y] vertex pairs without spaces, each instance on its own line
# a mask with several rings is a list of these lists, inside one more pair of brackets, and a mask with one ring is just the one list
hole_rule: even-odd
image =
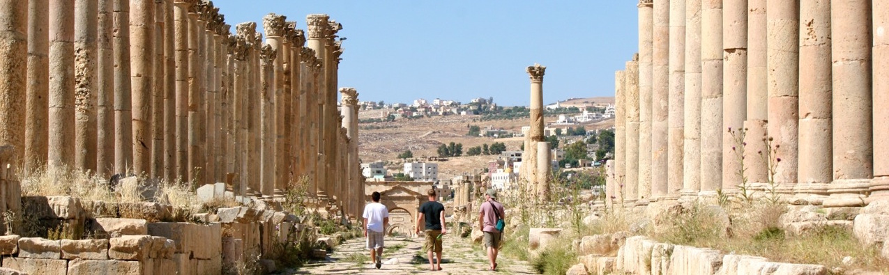
[[2,0],[0,14],[0,178],[46,165],[272,200],[306,177],[322,206],[360,215],[357,92],[338,106],[327,15],[304,32],[268,14],[263,40],[206,0]]

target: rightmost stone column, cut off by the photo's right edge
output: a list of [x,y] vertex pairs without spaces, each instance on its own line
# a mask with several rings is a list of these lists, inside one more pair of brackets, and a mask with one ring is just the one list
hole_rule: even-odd
[[[873,125],[889,125],[889,1],[873,0]],[[889,196],[889,131],[874,127],[874,178],[872,198]]]

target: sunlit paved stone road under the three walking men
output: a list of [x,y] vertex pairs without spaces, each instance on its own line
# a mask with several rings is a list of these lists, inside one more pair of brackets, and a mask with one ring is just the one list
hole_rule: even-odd
[[536,274],[528,263],[500,255],[498,271],[487,271],[487,256],[480,246],[468,240],[445,235],[442,271],[429,271],[421,238],[386,237],[383,265],[379,270],[371,263],[364,249],[364,239],[348,240],[341,244],[324,262],[308,263],[287,274]]

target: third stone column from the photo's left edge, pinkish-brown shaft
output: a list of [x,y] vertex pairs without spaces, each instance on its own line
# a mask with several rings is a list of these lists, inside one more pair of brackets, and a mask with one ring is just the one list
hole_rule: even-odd
[[[11,4],[7,4],[11,6]],[[16,20],[15,17],[11,20]],[[74,105],[75,105],[75,79],[74,79],[74,2],[70,0],[51,0],[49,8],[49,20],[52,22],[49,28],[50,35],[50,97],[49,97],[49,166],[64,167],[74,165]],[[24,23],[24,21],[22,21]],[[14,25],[11,25],[14,26]],[[26,43],[17,46],[27,47]],[[16,49],[17,51],[19,49]],[[21,55],[20,57],[25,57]],[[15,57],[7,57],[12,60]],[[21,63],[20,63],[21,64]],[[15,78],[18,80],[18,78]],[[16,82],[18,83],[18,82]],[[12,86],[12,85],[11,85]],[[20,87],[9,87],[16,89]],[[17,106],[18,104],[14,105]],[[14,110],[14,109],[11,109]],[[12,124],[15,123],[15,124]],[[19,122],[12,122],[17,125]],[[8,129],[15,129],[5,127]],[[20,144],[20,135],[16,130],[15,135],[8,143]],[[12,138],[16,137],[16,138]]]

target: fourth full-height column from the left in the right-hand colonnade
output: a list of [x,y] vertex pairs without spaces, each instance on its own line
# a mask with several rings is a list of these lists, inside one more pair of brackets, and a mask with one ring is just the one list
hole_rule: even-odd
[[683,185],[679,193],[684,200],[692,200],[701,191],[701,0],[685,2],[683,113]]

